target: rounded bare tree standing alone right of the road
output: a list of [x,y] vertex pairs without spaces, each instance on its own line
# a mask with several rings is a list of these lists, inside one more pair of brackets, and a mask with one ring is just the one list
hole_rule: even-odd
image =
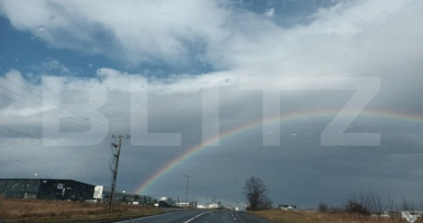
[[267,194],[270,191],[267,186],[264,185],[262,179],[255,176],[250,177],[245,182],[243,187],[243,193],[247,197],[248,203],[250,203],[249,210],[264,210],[271,208],[271,200],[267,198]]

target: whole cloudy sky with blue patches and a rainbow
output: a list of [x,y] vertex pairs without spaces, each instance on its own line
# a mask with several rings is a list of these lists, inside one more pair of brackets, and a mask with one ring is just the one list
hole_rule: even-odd
[[0,178],[423,199],[422,1],[0,1]]

